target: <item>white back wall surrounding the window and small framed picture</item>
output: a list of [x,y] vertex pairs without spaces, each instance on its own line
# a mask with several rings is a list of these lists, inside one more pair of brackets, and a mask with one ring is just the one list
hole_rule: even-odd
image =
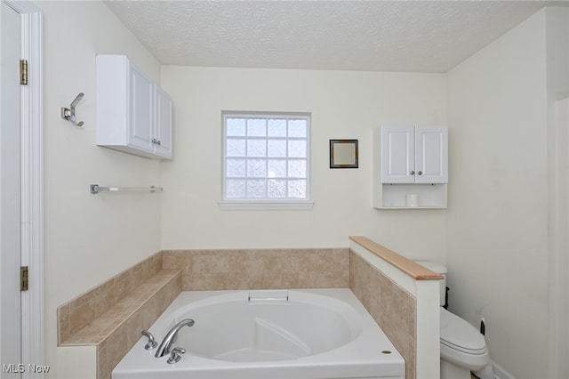
[[[445,124],[439,74],[163,67],[174,157],[163,164],[164,249],[348,246],[368,238],[445,259],[445,210],[372,208],[372,128]],[[221,211],[221,111],[312,113],[311,211]],[[453,133],[453,131],[451,131]],[[359,169],[330,169],[328,141],[359,140]]]

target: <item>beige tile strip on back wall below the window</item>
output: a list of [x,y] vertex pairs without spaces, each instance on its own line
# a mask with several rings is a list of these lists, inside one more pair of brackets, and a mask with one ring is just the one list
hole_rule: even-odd
[[164,250],[182,270],[182,290],[349,286],[349,249]]

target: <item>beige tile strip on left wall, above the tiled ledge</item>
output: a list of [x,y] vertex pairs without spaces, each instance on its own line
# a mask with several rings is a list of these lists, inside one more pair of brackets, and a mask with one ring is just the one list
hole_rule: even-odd
[[162,270],[162,252],[124,270],[100,286],[77,296],[57,309],[58,344],[89,325],[111,309],[116,302],[131,294],[158,271]]

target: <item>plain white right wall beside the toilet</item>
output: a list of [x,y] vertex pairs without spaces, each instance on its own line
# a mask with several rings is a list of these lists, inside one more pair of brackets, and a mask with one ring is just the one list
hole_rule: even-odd
[[565,11],[534,14],[448,74],[450,309],[476,326],[485,318],[493,360],[519,379],[557,377],[548,367],[546,25],[548,12]]

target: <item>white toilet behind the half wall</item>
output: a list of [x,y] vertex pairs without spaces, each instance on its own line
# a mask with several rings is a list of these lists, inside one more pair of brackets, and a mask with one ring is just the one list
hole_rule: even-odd
[[436,262],[417,262],[443,276],[441,280],[441,379],[493,379],[490,352],[484,335],[467,321],[445,310],[446,267]]

